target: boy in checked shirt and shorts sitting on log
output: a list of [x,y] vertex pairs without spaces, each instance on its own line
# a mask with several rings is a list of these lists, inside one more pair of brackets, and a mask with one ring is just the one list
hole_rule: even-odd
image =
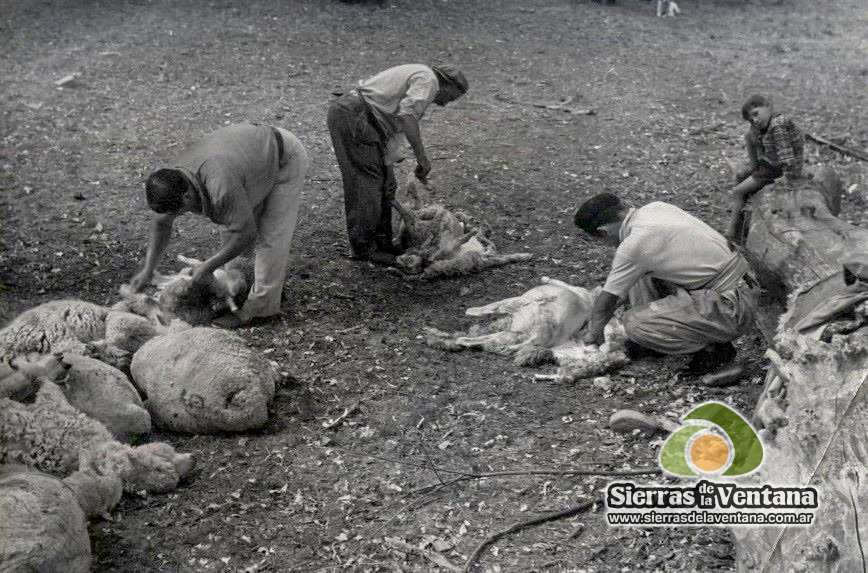
[[747,235],[745,204],[760,189],[782,175],[787,180],[802,176],[805,136],[787,116],[775,113],[772,103],[761,95],[748,98],[741,116],[750,123],[745,134],[748,164],[736,173],[732,214],[726,238],[743,243]]

